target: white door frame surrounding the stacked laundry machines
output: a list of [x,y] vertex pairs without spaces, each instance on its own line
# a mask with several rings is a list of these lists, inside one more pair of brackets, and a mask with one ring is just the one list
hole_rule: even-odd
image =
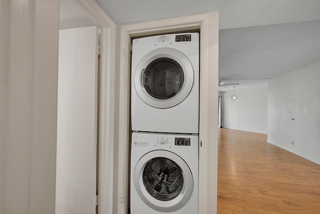
[[[216,213],[218,12],[124,25],[120,28],[118,196],[116,213],[127,210],[130,126],[131,37],[200,30],[199,213]],[[115,208],[115,207],[114,207]]]

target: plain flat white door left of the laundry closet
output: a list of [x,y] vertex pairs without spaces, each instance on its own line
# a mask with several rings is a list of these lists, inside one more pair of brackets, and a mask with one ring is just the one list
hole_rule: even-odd
[[59,31],[56,214],[95,213],[97,28]]

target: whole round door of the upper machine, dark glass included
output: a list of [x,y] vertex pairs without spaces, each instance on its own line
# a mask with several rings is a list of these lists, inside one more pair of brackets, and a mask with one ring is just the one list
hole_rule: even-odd
[[155,108],[171,108],[181,103],[193,85],[193,69],[179,51],[159,48],[146,54],[134,71],[139,97]]

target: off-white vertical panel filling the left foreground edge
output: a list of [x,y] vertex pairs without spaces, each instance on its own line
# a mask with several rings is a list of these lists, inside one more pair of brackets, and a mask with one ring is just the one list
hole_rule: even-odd
[[58,1],[0,5],[0,213],[53,214]]

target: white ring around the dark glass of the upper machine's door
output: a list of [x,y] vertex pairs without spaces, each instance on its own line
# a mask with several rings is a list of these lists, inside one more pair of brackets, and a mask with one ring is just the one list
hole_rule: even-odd
[[[145,77],[147,76],[145,72],[148,72],[148,70],[146,70],[147,66],[161,58],[171,59],[176,62],[182,70],[180,73],[183,74],[183,77],[180,77],[183,83],[179,86],[178,92],[167,98],[152,95],[144,84]],[[137,94],[146,104],[154,108],[171,108],[181,103],[190,93],[193,86],[193,79],[193,69],[189,60],[181,52],[171,48],[159,48],[147,53],[139,61],[134,70],[134,87]]]

